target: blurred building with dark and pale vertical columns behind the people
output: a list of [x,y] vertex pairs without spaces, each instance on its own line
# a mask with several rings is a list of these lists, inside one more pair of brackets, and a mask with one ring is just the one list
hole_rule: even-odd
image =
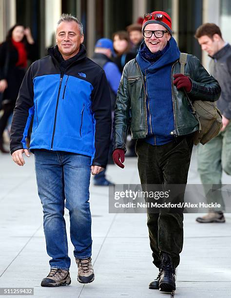
[[113,32],[143,17],[144,13],[164,10],[172,17],[173,36],[181,52],[193,54],[207,64],[193,38],[203,22],[221,27],[224,39],[231,42],[230,0],[0,0],[0,42],[16,22],[29,26],[38,44],[39,56],[55,43],[55,28],[61,13],[71,13],[83,23],[88,55],[100,37],[112,37]]

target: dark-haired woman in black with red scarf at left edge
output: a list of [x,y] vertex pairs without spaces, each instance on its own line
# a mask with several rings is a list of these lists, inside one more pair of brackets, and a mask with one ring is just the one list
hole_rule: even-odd
[[14,110],[27,59],[34,60],[35,43],[29,28],[14,25],[8,32],[6,41],[0,45],[0,151],[3,147],[2,134],[8,118]]

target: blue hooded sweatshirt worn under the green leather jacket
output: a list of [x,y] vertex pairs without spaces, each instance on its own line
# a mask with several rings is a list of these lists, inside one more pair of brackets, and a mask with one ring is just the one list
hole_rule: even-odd
[[[146,141],[152,145],[164,145],[173,140],[174,130],[171,72],[173,63],[179,59],[180,51],[173,37],[168,41],[163,55],[153,62],[142,55],[144,41],[136,61],[145,76],[148,135]],[[151,54],[151,52],[150,52]]]

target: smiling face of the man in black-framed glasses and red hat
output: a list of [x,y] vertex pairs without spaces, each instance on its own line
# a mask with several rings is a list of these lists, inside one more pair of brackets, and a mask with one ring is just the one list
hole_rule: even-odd
[[[160,24],[148,24],[145,26],[144,30],[166,30],[166,28]],[[163,37],[155,37],[154,34],[151,37],[144,37],[144,41],[152,53],[157,51],[162,51],[167,42],[170,40],[171,35],[169,33],[164,33]]]

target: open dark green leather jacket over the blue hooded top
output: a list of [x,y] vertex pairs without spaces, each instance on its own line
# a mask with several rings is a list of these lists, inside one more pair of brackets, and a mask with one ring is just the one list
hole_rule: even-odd
[[[190,109],[184,90],[177,90],[173,85],[173,75],[180,73],[180,63],[176,60],[172,66],[172,99],[175,129],[172,135],[185,135],[199,129],[199,123]],[[189,98],[194,100],[215,101],[219,98],[221,88],[217,80],[209,75],[199,59],[188,55],[185,75],[192,80]],[[131,125],[133,139],[145,138],[148,131],[146,111],[145,77],[135,59],[129,61],[123,70],[117,92],[115,118],[113,123],[113,149],[126,151],[126,134]]]

